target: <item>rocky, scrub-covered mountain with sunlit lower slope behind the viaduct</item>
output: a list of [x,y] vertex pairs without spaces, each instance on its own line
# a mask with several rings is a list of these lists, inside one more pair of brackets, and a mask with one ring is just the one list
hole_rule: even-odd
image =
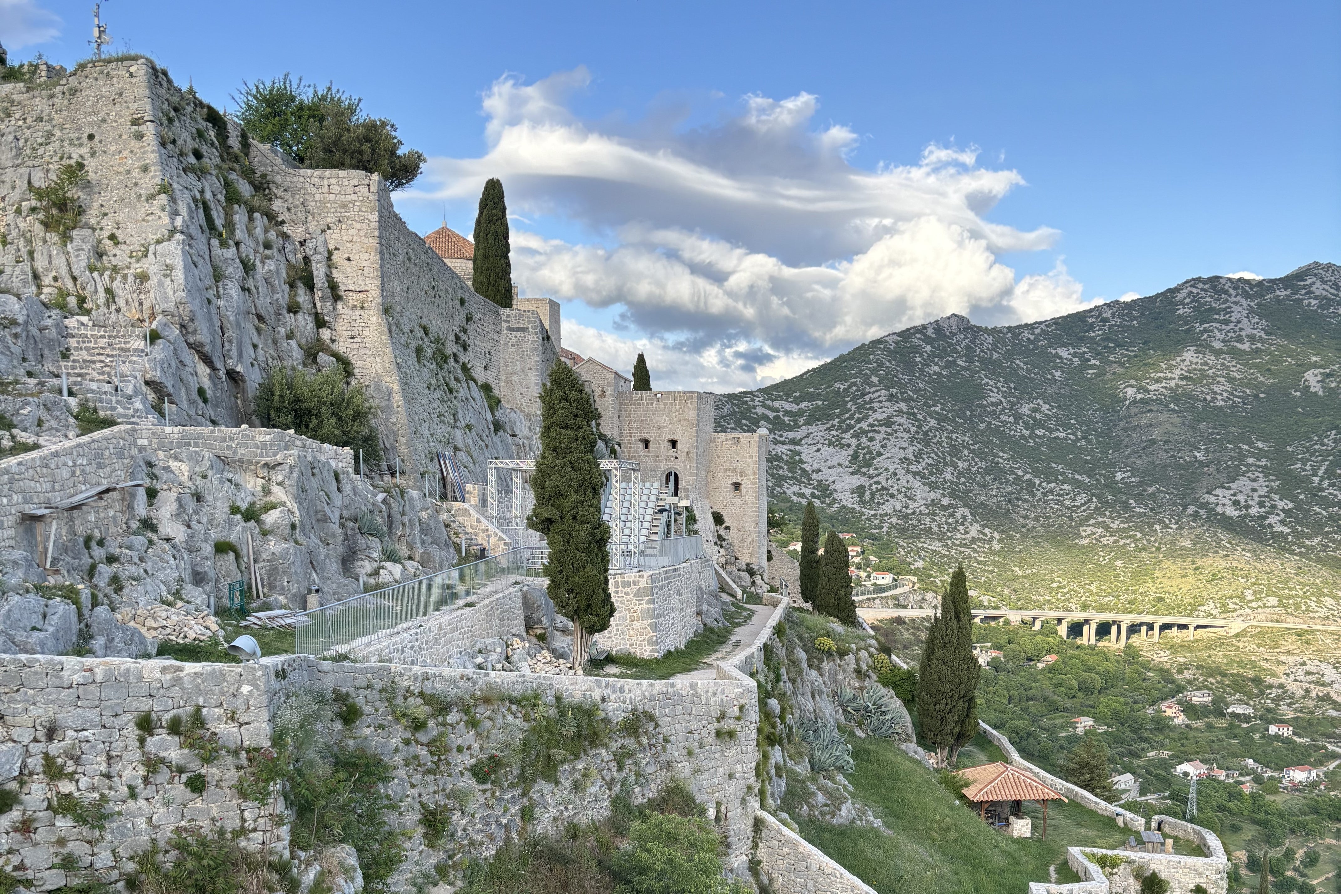
[[806,499],[987,599],[1341,617],[1341,268],[890,332],[717,398]]

